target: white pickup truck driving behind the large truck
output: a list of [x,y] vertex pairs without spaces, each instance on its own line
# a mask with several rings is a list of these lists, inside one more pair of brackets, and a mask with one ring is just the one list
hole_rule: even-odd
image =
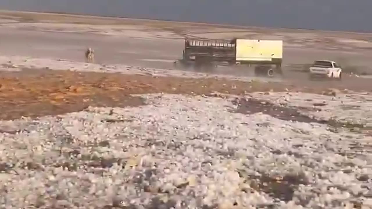
[[334,61],[315,60],[309,69],[310,78],[328,77],[341,79],[342,68]]

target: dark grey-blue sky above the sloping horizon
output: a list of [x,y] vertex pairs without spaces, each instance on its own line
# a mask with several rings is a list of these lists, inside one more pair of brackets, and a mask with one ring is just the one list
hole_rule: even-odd
[[372,32],[372,0],[0,0],[0,8]]

